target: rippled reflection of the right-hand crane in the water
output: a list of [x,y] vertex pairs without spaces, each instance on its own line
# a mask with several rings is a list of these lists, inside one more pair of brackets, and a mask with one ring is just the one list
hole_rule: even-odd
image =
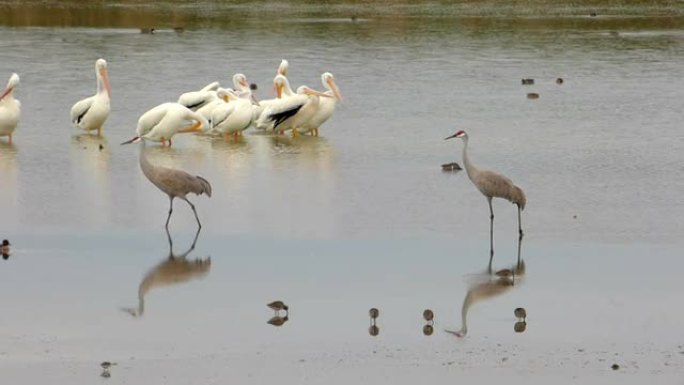
[[[468,293],[463,299],[463,306],[461,307],[461,329],[459,330],[444,330],[447,333],[453,334],[456,337],[465,337],[468,333],[468,311],[471,306],[477,302],[492,299],[500,296],[510,289],[516,283],[520,283],[520,279],[525,275],[525,261],[520,258],[520,243],[518,240],[518,261],[510,269],[501,269],[492,273],[491,261],[485,273],[478,274],[470,283]],[[516,326],[517,331],[518,326]],[[524,330],[524,328],[523,328]]]

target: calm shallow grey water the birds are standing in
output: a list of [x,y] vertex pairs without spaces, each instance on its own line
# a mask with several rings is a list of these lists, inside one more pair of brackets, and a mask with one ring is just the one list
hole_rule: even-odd
[[[82,16],[73,19],[60,16],[74,9],[64,4],[49,12],[45,3],[2,4],[12,12],[0,17],[0,76],[21,76],[15,143],[0,139],[0,236],[14,244],[0,261],[2,304],[12,309],[0,313],[0,354],[15,383],[49,375],[29,376],[24,361],[109,359],[135,371],[136,357],[220,361],[269,349],[318,359],[324,372],[371,349],[420,356],[398,354],[390,365],[441,363],[426,353],[434,349],[464,370],[491,366],[463,344],[531,351],[537,361],[519,365],[532,372],[553,367],[546,356],[585,368],[577,349],[650,355],[641,367],[627,364],[634,373],[662,365],[654,351],[673,357],[659,373],[684,365],[684,313],[673,302],[684,268],[680,3],[605,6],[592,18],[582,5],[539,16],[543,2],[391,8],[399,16],[347,3],[141,11],[133,2],[67,12]],[[169,29],[179,25],[184,32]],[[148,35],[143,26],[159,28]],[[102,138],[68,121],[70,106],[94,92],[98,57],[113,88]],[[235,72],[270,97],[281,58],[293,85],[320,88],[320,73],[334,73],[344,102],[319,138],[185,136],[154,148],[155,163],[200,174],[214,190],[191,198],[204,228],[187,257],[211,263],[165,265],[168,200],[140,172],[138,149],[118,143],[147,109],[214,80],[229,84]],[[536,84],[522,86],[524,77]],[[443,138],[463,128],[473,161],[513,179],[528,206],[525,274],[471,307],[459,341],[443,329],[461,327],[489,252],[486,200],[465,173],[440,170],[461,162],[461,143]],[[494,210],[499,269],[516,261],[516,216],[507,202]],[[171,232],[174,252],[187,250],[195,222],[183,202]],[[159,271],[173,271],[175,283],[143,285],[141,316],[121,311],[138,308],[141,282]],[[264,306],[274,299],[292,313],[277,328]],[[529,314],[522,334],[513,331],[518,306]],[[425,308],[437,319],[430,338]],[[236,378],[253,369],[235,369]],[[80,375],[65,380],[92,378]]]

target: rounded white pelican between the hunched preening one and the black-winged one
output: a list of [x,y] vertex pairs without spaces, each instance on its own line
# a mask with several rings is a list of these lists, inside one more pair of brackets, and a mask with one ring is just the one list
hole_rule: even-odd
[[248,95],[238,96],[234,91],[227,91],[228,103],[214,108],[211,115],[211,130],[226,136],[242,135],[252,124],[252,102]]

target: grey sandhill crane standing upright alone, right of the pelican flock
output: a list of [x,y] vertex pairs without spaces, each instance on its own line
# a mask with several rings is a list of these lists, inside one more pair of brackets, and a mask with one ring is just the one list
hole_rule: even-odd
[[444,140],[451,138],[463,139],[463,164],[468,173],[468,178],[487,198],[487,203],[489,203],[489,263],[491,265],[491,260],[494,257],[494,210],[492,209],[492,198],[503,198],[518,206],[518,240],[522,240],[523,237],[520,225],[520,211],[525,209],[527,198],[525,198],[525,193],[522,189],[514,185],[510,179],[494,171],[480,170],[470,162],[470,158],[468,158],[468,134],[465,131],[460,130],[444,138]]

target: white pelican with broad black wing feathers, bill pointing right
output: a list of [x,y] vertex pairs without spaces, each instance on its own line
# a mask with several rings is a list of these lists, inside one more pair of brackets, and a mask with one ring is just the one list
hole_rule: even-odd
[[[276,85],[276,92],[279,96],[282,95],[283,88],[282,83]],[[331,96],[307,86],[300,86],[297,88],[296,94],[280,98],[266,107],[259,116],[256,126],[260,129],[275,130],[279,133],[292,130],[292,136],[295,137],[298,133],[296,128],[311,119],[316,112],[320,97],[329,98]]]

